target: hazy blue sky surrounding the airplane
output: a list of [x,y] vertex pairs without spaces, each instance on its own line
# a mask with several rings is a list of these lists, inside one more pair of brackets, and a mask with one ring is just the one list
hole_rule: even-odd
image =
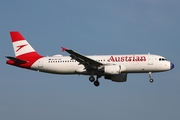
[[[0,1],[0,119],[179,120],[180,1]],[[129,74],[125,83],[88,76],[39,73],[5,64],[14,56],[9,31],[18,30],[42,55],[153,53],[175,68]]]

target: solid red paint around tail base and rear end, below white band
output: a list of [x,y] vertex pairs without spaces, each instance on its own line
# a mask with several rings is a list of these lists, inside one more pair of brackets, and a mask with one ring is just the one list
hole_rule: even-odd
[[22,64],[22,63],[14,62],[12,60],[8,60],[6,63],[9,65],[30,69],[32,64],[34,64],[34,62],[36,62],[38,59],[42,57],[43,56],[39,55],[37,52],[30,52],[30,53],[17,56],[18,59],[27,61],[27,63]]

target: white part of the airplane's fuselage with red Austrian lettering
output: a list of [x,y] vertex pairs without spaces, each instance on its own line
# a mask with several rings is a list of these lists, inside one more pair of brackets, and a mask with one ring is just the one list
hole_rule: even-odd
[[[163,72],[171,69],[171,62],[152,54],[87,56],[104,65],[121,65],[122,73]],[[54,74],[90,74],[82,64],[69,56],[43,57],[31,69]],[[98,73],[95,73],[98,74]]]

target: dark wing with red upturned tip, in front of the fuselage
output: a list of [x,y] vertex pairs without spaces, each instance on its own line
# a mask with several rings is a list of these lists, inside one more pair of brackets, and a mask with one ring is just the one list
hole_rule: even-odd
[[79,64],[82,64],[85,66],[86,69],[98,69],[99,67],[103,66],[101,62],[95,61],[89,57],[86,57],[80,53],[77,53],[71,49],[66,49],[62,47],[62,51],[66,51],[70,54],[70,57],[72,59],[75,59],[79,62]]

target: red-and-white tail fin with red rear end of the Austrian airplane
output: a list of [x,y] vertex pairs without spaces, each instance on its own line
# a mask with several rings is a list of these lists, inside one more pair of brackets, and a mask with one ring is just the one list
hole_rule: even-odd
[[[14,48],[14,53],[16,58],[14,61],[12,59],[7,61],[7,64],[29,68],[36,60],[42,58],[40,54],[38,54],[33,47],[26,41],[26,39],[18,32],[11,31],[10,36],[12,39],[12,44]],[[27,61],[26,63],[19,63],[16,61]]]

